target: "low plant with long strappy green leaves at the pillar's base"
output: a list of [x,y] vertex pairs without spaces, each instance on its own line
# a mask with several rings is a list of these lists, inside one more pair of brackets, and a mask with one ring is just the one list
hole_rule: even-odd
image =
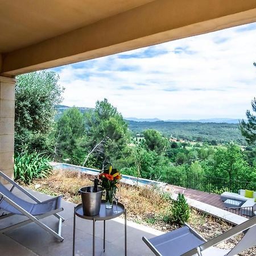
[[14,156],[14,180],[30,184],[32,179],[46,177],[51,171],[49,156],[44,153],[26,151]]

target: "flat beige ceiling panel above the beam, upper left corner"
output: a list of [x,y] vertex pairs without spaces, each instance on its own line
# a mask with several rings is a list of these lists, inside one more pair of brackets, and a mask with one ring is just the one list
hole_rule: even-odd
[[152,1],[0,1],[0,52],[11,52],[42,42]]

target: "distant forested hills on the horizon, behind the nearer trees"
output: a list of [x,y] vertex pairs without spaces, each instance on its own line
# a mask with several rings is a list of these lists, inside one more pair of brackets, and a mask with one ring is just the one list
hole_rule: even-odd
[[[57,105],[57,114],[55,121],[57,121],[64,110],[71,107],[64,105]],[[89,111],[92,108],[77,107],[82,113]],[[139,118],[125,118],[129,129],[133,135],[141,134],[146,129],[155,129],[160,131],[166,137],[175,137],[185,139],[188,141],[216,141],[218,143],[236,142],[238,144],[245,144],[240,130],[238,129],[238,119],[229,118],[213,118],[195,120],[169,120],[160,121],[158,118],[139,119]],[[131,119],[131,120],[129,120]],[[236,122],[237,120],[237,122]],[[214,122],[215,121],[215,122]],[[224,123],[225,121],[225,123]],[[236,123],[232,123],[236,122]]]

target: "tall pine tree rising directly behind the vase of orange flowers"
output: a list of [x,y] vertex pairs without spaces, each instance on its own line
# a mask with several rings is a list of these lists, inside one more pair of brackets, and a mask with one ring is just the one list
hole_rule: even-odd
[[88,147],[97,159],[98,167],[105,168],[121,155],[123,147],[129,142],[127,123],[105,98],[97,101],[94,110],[85,113]]

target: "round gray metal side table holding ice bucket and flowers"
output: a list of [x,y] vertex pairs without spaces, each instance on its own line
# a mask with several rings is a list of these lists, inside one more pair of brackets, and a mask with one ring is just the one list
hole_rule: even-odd
[[116,206],[113,205],[112,209],[106,209],[105,201],[101,202],[100,213],[96,216],[86,216],[82,212],[82,204],[77,205],[74,208],[74,223],[73,223],[73,256],[75,256],[75,243],[76,243],[76,217],[84,218],[86,220],[93,221],[93,256],[95,256],[95,222],[96,221],[104,221],[104,229],[103,229],[103,251],[105,252],[105,238],[106,238],[106,220],[111,220],[112,218],[116,218],[121,214],[125,214],[125,256],[127,256],[127,221],[126,221],[126,209],[121,204],[117,204],[118,213],[115,213]]

